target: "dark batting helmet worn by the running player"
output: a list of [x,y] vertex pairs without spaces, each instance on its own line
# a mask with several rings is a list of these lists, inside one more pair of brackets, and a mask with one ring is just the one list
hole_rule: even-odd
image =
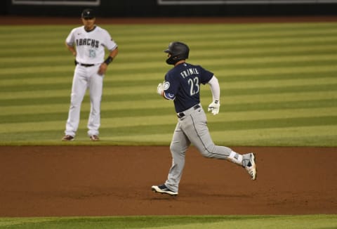
[[166,60],[169,65],[175,65],[179,60],[186,60],[188,58],[188,53],[190,53],[190,48],[186,44],[180,41],[174,41],[169,44],[169,47],[164,51],[164,53],[169,53],[171,56]]

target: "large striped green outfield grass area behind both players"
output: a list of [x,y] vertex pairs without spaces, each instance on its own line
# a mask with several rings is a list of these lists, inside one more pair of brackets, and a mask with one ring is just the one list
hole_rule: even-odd
[[[0,27],[1,145],[64,144],[74,71],[64,42],[75,26]],[[156,89],[170,68],[163,50],[180,40],[188,61],[220,81],[220,114],[208,116],[216,143],[337,145],[336,23],[103,27],[119,55],[105,76],[98,144],[169,144],[176,116]],[[201,97],[206,108],[209,86]],[[91,144],[89,109],[86,96],[73,145]]]

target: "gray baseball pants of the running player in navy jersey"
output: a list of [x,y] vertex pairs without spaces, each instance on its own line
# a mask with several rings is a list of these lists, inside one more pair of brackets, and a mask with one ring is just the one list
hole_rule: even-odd
[[[173,192],[178,192],[180,178],[185,166],[185,152],[191,143],[204,157],[228,159],[230,162],[246,166],[250,159],[249,154],[239,155],[230,148],[213,143],[207,127],[206,114],[201,105],[196,110],[191,107],[183,113],[185,116],[178,119],[170,145],[172,165],[165,182],[167,188]],[[239,161],[235,160],[239,157],[241,157]]]

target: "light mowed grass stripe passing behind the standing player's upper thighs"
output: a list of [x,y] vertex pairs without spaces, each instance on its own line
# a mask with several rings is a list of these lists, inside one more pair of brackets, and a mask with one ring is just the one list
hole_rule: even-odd
[[[300,63],[291,63],[293,66],[287,66],[287,65],[279,65],[277,67],[268,67],[267,69],[263,68],[256,68],[255,67],[246,67],[242,66],[239,67],[237,70],[234,69],[234,67],[231,66],[232,69],[229,67],[219,67],[216,65],[216,67],[212,67],[213,63],[209,63],[207,67],[212,67],[214,70],[212,72],[218,77],[218,79],[230,79],[230,81],[273,81],[273,80],[279,80],[279,79],[310,79],[310,78],[324,78],[324,77],[331,77],[333,78],[333,73],[335,70],[337,70],[337,67],[332,64],[332,60],[328,60],[329,63],[324,63],[321,65],[312,64],[312,67],[303,67],[304,70],[300,70]],[[303,65],[310,65],[310,62],[303,63]],[[325,65],[326,64],[326,65]],[[313,67],[317,66],[317,67]],[[312,70],[312,68],[315,68],[315,70]],[[127,70],[127,71],[121,71],[117,72],[112,70],[111,72],[108,72],[105,75],[105,84],[110,84],[112,82],[117,82],[117,84],[122,85],[125,82],[125,85],[128,84],[135,84],[134,82],[142,81],[144,80],[145,83],[152,83],[152,81],[163,81],[164,75],[165,75],[165,68],[158,67],[157,69],[154,69],[154,71],[150,71],[150,73],[143,72],[143,73],[135,73],[132,74],[133,70]],[[311,71],[312,70],[312,71]],[[20,84],[24,84],[29,88],[30,85],[37,85],[37,90],[39,89],[46,89],[46,88],[40,88],[39,85],[47,85],[49,82],[50,84],[62,84],[72,82],[72,76],[73,76],[74,70],[66,70],[64,72],[37,72],[37,73],[23,73],[19,74],[18,79],[15,77],[9,77],[7,76],[5,79],[2,79],[3,77],[0,76],[1,84],[0,89],[1,91],[8,88],[8,86],[20,86]],[[135,72],[142,72],[142,71],[136,71]],[[246,72],[246,73],[245,73]],[[275,72],[274,74],[272,72]],[[29,78],[29,75],[33,75],[32,78]],[[55,76],[55,77],[53,77]],[[124,79],[123,79],[124,77]],[[43,78],[43,80],[41,79]],[[157,83],[156,83],[157,84]],[[53,90],[53,86],[49,86],[51,90]],[[24,88],[22,88],[23,91],[25,91]]]

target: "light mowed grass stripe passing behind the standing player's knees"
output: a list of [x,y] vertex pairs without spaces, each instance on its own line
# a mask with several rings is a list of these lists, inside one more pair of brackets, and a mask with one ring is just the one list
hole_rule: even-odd
[[[319,86],[317,87],[318,90],[321,90],[322,88]],[[206,89],[205,89],[206,90]],[[211,101],[211,93],[202,91],[203,97],[201,99],[201,103],[207,103]],[[323,89],[324,90],[324,89]],[[109,90],[107,90],[109,91]],[[58,96],[44,96],[44,93],[39,97],[46,97],[46,98],[53,98],[53,97],[60,97],[60,100],[63,101],[63,103],[46,103],[46,104],[36,104],[36,105],[20,105],[16,104],[16,100],[13,100],[13,103],[11,105],[6,106],[6,109],[1,110],[1,115],[11,115],[11,114],[35,114],[37,113],[37,110],[39,111],[38,114],[45,114],[45,113],[51,113],[51,112],[60,112],[60,110],[67,110],[70,103],[70,90],[67,91],[69,93],[69,96],[65,96],[67,93],[60,93]],[[237,95],[237,93],[234,93],[234,91],[227,91],[224,90],[221,93],[221,105],[239,105],[242,103],[275,103],[275,102],[291,102],[291,101],[306,101],[306,100],[312,100],[315,98],[315,100],[324,100],[329,99],[333,100],[336,99],[336,90],[334,90],[334,87],[331,86],[330,90],[325,89],[324,91],[296,91],[293,90],[291,92],[285,92],[285,93],[275,93],[275,91],[272,91],[274,93],[246,93],[244,95]],[[48,91],[45,91],[45,93],[48,93]],[[103,95],[103,102],[102,102],[102,109],[103,110],[123,110],[123,109],[140,109],[140,108],[161,108],[161,107],[173,107],[173,103],[171,101],[166,101],[159,96],[157,96],[157,93],[153,92],[153,95],[151,98],[147,98],[142,101],[142,103],[138,103],[137,100],[126,100],[123,101],[123,103],[120,103],[119,100],[112,101],[106,96],[111,94],[105,93]],[[20,97],[25,98],[25,96]],[[29,98],[29,97],[27,97]],[[35,98],[32,96],[31,98]],[[19,99],[19,98],[15,98]],[[51,102],[51,101],[50,101]],[[2,104],[2,103],[0,103]],[[84,105],[87,105],[88,107],[88,96],[84,97]],[[206,104],[208,105],[208,104]],[[89,109],[89,107],[88,107]],[[84,110],[82,107],[81,110]]]

